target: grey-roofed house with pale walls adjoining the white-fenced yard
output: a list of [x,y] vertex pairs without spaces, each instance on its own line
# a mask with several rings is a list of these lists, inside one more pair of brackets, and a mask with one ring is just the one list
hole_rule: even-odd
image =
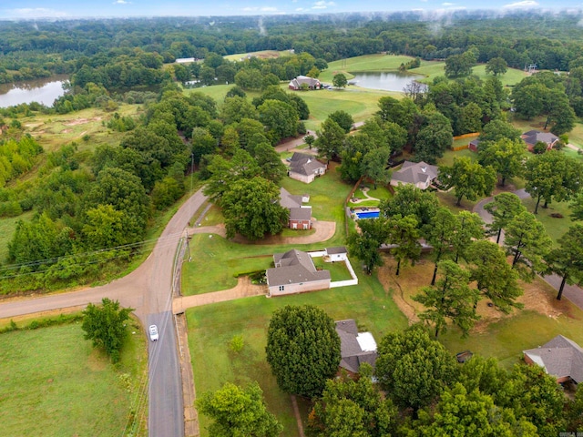
[[292,249],[273,255],[274,268],[267,269],[269,296],[330,288],[330,270],[318,270],[309,253]]

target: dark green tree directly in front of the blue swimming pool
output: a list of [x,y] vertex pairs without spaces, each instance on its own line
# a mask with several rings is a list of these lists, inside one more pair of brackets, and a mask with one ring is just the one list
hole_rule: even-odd
[[389,228],[382,217],[359,220],[358,225],[361,231],[348,237],[348,248],[353,256],[363,261],[370,275],[375,266],[383,265],[379,249],[389,237]]

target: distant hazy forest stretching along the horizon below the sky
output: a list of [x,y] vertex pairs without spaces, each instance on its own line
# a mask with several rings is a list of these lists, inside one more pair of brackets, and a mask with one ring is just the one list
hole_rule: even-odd
[[[537,64],[565,71],[582,57],[579,20],[578,15],[518,12],[499,18],[457,13],[432,22],[416,14],[2,22],[0,83],[74,74],[83,66],[115,70],[105,73],[111,80],[129,65],[138,67],[139,74],[118,77],[119,84],[136,83],[138,76],[155,82],[157,76],[148,68],[156,68],[159,60],[268,49],[293,49],[331,62],[383,51],[445,59],[474,48],[477,62],[500,57],[517,68]],[[112,62],[114,58],[119,60]],[[99,83],[95,77],[88,81]]]

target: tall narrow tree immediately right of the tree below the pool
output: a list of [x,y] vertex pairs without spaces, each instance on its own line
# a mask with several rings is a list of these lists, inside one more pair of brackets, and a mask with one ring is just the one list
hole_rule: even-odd
[[402,262],[411,260],[411,263],[415,265],[415,261],[421,256],[420,237],[421,232],[414,216],[401,217],[397,214],[389,219],[388,242],[393,246],[391,253],[397,260],[395,273],[397,276],[401,271]]

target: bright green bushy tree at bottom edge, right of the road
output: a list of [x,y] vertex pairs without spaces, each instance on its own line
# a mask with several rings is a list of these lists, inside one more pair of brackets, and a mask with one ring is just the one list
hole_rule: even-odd
[[202,393],[196,406],[214,420],[209,426],[210,435],[277,437],[283,431],[275,416],[267,411],[257,382],[245,388],[226,382],[218,391]]

